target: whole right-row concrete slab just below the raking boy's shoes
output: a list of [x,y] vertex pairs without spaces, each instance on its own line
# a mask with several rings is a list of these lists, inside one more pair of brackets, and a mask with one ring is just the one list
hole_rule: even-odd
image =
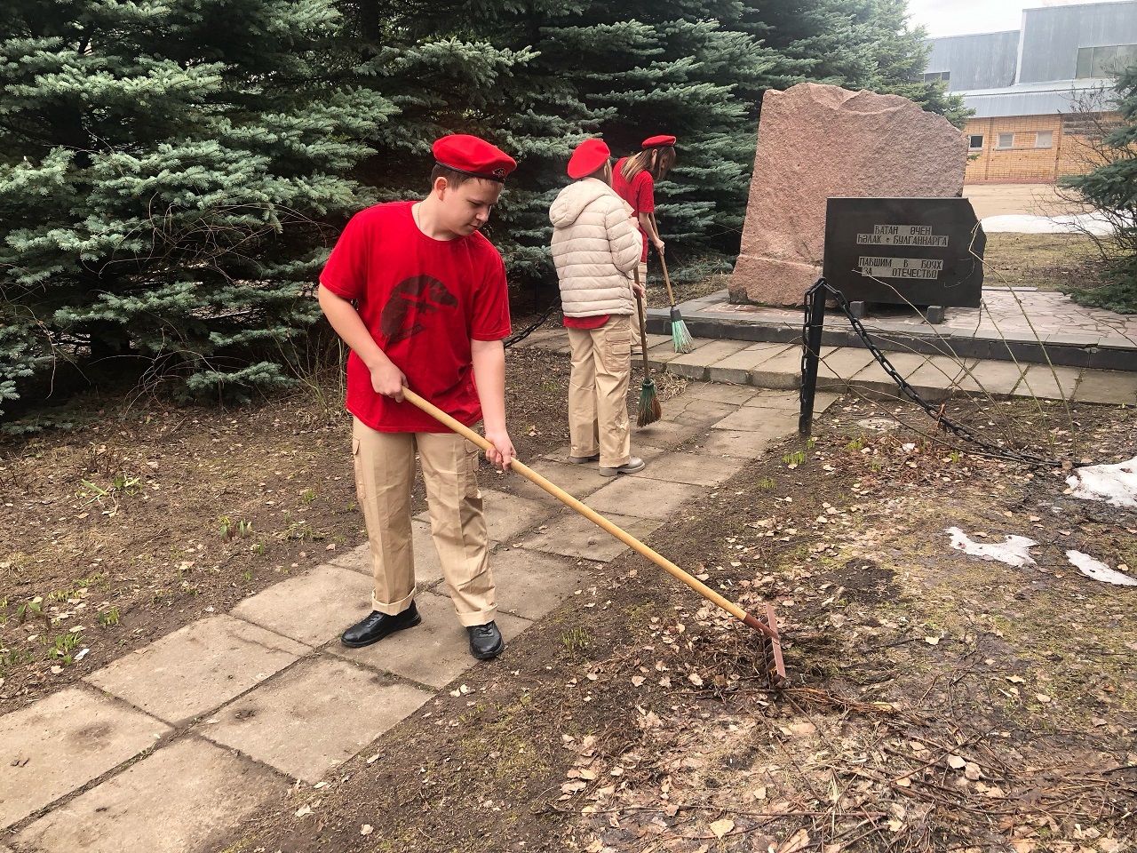
[[432,695],[321,656],[301,661],[196,730],[294,779],[316,782]]

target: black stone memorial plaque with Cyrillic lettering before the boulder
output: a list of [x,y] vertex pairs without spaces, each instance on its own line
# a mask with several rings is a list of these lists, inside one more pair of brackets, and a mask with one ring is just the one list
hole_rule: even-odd
[[850,303],[978,308],[986,243],[965,198],[831,198],[824,276]]

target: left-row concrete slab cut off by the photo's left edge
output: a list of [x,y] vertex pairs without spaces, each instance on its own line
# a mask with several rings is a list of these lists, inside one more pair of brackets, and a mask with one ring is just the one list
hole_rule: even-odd
[[168,731],[83,687],[0,717],[0,829],[133,759]]

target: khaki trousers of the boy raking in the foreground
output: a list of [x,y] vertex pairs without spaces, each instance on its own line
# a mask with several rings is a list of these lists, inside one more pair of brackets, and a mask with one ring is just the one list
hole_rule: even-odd
[[415,450],[422,459],[430,527],[442,575],[463,626],[485,624],[497,612],[489,538],[478,489],[478,448],[453,432],[376,432],[355,419],[351,454],[356,490],[367,522],[372,608],[401,613],[415,597],[410,487]]

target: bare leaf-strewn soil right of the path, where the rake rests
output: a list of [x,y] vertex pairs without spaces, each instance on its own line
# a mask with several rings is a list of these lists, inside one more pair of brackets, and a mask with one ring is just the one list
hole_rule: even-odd
[[[877,429],[894,409],[919,431]],[[956,414],[1134,455],[1132,409]],[[224,850],[1127,848],[1134,591],[1064,552],[1137,566],[1137,519],[1064,494],[1062,470],[932,442],[920,417],[839,403],[814,441],[787,440],[650,538],[752,610],[774,603],[787,689],[767,689],[753,632],[638,555],[586,564],[591,581],[503,659]],[[954,552],[952,525],[1029,536],[1037,564]]]

